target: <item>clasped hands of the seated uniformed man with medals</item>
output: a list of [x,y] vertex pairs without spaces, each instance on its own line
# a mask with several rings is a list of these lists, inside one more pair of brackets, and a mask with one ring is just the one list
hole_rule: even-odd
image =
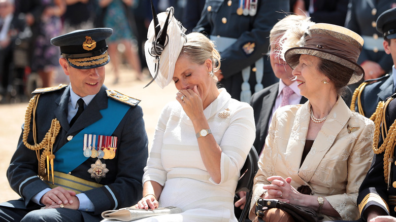
[[76,192],[68,191],[61,187],[56,187],[45,193],[41,197],[40,203],[45,205],[43,209],[68,208],[78,210],[80,207]]

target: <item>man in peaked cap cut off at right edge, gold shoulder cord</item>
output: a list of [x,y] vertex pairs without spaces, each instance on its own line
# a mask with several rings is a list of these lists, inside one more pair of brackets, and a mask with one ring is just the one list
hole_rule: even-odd
[[[396,42],[394,42],[396,39],[396,32],[394,31],[396,29],[396,17],[391,17],[390,15],[396,16],[395,9],[383,12],[376,22],[378,32],[382,33],[384,37],[382,48],[386,54],[391,55],[393,64],[396,64]],[[388,75],[362,83],[355,90],[351,109],[374,120],[375,115],[372,115],[375,113],[378,102],[385,101],[386,98],[395,92],[396,75],[392,75],[392,73],[396,73],[394,65]]]

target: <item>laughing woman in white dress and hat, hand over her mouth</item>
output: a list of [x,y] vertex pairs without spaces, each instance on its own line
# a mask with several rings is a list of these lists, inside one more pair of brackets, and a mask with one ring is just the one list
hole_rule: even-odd
[[158,14],[161,28],[169,13],[168,43],[159,61],[151,56],[158,50],[150,50],[150,31],[146,59],[153,76],[160,64],[155,80],[161,87],[174,81],[177,101],[162,109],[143,176],[144,197],[136,207],[176,206],[182,213],[139,221],[237,221],[233,200],[254,141],[253,109],[217,88],[213,72],[220,56],[206,36],[185,36],[173,9]]

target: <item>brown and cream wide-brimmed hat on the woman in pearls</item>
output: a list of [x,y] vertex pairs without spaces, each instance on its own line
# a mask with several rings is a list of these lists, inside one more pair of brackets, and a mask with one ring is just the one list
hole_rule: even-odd
[[337,62],[353,70],[348,85],[357,83],[365,71],[358,65],[363,39],[357,33],[338,25],[316,23],[305,32],[299,47],[284,52],[284,58],[291,68],[299,64],[300,55],[312,55],[329,61]]

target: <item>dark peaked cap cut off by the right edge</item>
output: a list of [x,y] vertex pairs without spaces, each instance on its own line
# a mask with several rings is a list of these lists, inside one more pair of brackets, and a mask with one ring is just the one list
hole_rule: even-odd
[[396,8],[383,12],[377,19],[376,28],[387,39],[396,39]]

